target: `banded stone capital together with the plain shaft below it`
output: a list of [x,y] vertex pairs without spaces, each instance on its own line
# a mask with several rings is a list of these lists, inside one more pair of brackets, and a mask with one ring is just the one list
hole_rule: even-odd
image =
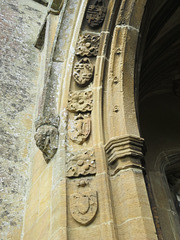
[[143,177],[143,139],[114,137],[105,145],[118,239],[157,239]]

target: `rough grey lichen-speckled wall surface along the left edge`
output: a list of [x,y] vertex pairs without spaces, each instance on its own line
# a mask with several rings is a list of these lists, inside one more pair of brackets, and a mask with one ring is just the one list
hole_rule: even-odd
[[29,168],[39,51],[46,8],[0,1],[0,239],[20,239]]

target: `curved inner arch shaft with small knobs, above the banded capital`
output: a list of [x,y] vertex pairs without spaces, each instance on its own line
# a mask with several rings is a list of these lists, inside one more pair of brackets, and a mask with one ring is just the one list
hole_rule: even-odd
[[[116,136],[139,137],[137,126],[134,79],[135,57],[142,16],[146,0],[122,1],[117,16],[111,44],[105,116],[111,122],[106,142]],[[110,114],[109,114],[110,113]],[[117,119],[120,124],[117,125]]]

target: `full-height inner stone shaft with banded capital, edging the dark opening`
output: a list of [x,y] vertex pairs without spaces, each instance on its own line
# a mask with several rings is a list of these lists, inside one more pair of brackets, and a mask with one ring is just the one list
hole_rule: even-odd
[[105,151],[121,240],[157,239],[141,166],[143,139],[134,100],[136,45],[145,2],[121,2],[104,91]]

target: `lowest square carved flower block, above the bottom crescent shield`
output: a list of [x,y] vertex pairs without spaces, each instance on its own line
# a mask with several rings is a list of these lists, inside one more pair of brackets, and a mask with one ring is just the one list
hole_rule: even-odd
[[92,150],[78,152],[67,162],[67,177],[79,177],[96,174],[96,161]]

